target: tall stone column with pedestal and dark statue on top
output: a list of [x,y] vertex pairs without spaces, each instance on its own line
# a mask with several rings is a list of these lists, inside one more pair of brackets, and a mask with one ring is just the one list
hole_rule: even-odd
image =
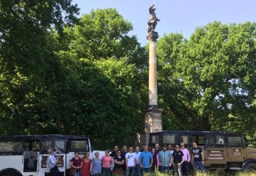
[[149,134],[162,130],[162,109],[158,108],[158,83],[157,83],[157,38],[154,31],[157,22],[160,21],[154,12],[154,5],[150,6],[150,18],[148,22],[147,40],[149,41],[149,108],[145,113],[146,144],[149,142]]

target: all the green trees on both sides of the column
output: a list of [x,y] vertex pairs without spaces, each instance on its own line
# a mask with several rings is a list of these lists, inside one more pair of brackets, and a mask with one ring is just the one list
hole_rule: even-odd
[[[0,2],[0,133],[89,135],[96,147],[143,132],[148,46],[115,9],[77,17],[71,0]],[[164,130],[255,138],[255,23],[211,22],[158,40]]]

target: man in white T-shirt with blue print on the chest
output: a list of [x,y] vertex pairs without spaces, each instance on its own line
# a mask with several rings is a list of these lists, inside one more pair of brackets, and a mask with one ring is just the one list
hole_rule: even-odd
[[134,166],[136,158],[134,157],[133,147],[129,148],[129,152],[126,153],[126,176],[134,176]]

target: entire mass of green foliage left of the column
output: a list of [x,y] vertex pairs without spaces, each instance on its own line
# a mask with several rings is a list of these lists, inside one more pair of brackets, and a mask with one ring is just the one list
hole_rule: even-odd
[[145,50],[114,9],[72,26],[78,9],[70,2],[0,2],[1,134],[89,135],[98,148],[122,145],[143,129],[145,62],[133,61]]

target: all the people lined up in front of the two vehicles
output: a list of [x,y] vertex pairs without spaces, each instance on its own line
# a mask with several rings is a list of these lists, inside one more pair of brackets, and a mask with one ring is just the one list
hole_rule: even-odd
[[[202,148],[197,146],[197,142],[193,142],[191,154],[190,157],[190,151],[186,149],[183,142],[175,145],[174,149],[171,145],[163,145],[162,150],[158,143],[150,150],[146,145],[142,146],[142,150],[136,146],[135,151],[131,146],[129,150],[126,146],[123,146],[122,150],[114,146],[114,151],[110,153],[110,150],[106,150],[102,158],[99,158],[98,152],[95,152],[92,159],[89,158],[88,153],[80,158],[79,153],[75,152],[74,158],[70,160],[70,166],[71,170],[75,170],[74,176],[109,176],[111,171],[115,176],[141,176],[142,173],[155,170],[182,176],[190,175],[189,162],[192,160],[195,172],[198,167],[205,171]],[[58,167],[52,164],[57,162],[51,150],[49,157],[51,173],[58,172]]]

